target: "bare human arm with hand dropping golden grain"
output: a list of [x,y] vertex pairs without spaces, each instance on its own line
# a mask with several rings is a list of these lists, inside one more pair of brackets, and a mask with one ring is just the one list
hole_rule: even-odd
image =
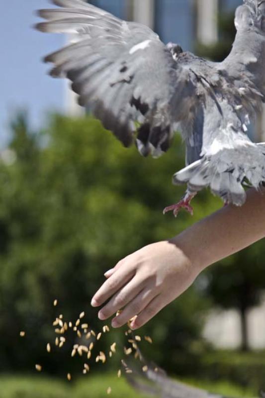
[[248,192],[243,207],[227,206],[168,241],[148,245],[125,257],[108,271],[107,281],[92,298],[100,319],[124,325],[137,315],[131,328],[148,322],[180,296],[199,273],[218,260],[265,237],[265,195]]

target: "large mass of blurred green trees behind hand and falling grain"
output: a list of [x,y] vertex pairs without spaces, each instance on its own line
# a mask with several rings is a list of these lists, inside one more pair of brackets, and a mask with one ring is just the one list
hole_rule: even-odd
[[[80,372],[80,361],[69,358],[75,335],[60,354],[46,353],[46,343],[55,339],[52,321],[60,313],[75,321],[85,310],[89,325],[101,329],[89,301],[103,273],[194,222],[185,212],[177,220],[162,214],[184,192],[171,184],[184,165],[183,148],[177,138],[162,159],[144,159],[90,117],[54,116],[33,134],[19,115],[12,132],[13,161],[0,163],[0,369],[31,371],[41,363],[56,375],[68,372],[71,362],[71,372]],[[219,203],[201,193],[194,200],[195,220]],[[170,368],[174,353],[192,352],[203,325],[198,311],[205,307],[207,300],[192,287],[144,327],[156,341],[152,359]],[[24,339],[20,330],[26,330]],[[124,338],[123,331],[112,330],[101,349],[115,340],[123,347]],[[167,349],[161,350],[165,341]],[[149,355],[151,347],[146,349]]]

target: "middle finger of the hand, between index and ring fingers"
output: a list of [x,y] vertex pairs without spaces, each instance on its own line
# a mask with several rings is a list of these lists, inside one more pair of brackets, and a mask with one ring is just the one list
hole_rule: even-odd
[[141,279],[139,276],[135,276],[100,309],[98,313],[99,319],[103,320],[109,318],[111,315],[115,314],[118,309],[128,304],[143,290],[144,283],[145,280],[143,278]]

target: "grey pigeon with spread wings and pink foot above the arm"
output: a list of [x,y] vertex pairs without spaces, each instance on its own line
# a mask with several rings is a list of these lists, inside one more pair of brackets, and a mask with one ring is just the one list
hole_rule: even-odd
[[191,199],[204,188],[224,204],[242,206],[245,185],[265,182],[265,143],[248,130],[265,102],[265,0],[236,9],[236,38],[228,57],[215,63],[164,44],[149,27],[126,22],[83,0],[52,0],[42,9],[42,32],[70,33],[75,41],[47,57],[50,75],[68,78],[87,107],[125,147],[158,158],[180,132],[186,184],[183,198],[164,209],[191,214]]

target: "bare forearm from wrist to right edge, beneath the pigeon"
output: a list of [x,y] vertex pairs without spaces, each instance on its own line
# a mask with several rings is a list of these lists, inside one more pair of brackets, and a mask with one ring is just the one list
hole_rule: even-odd
[[242,207],[229,205],[171,239],[200,270],[265,237],[265,190],[252,189]]

